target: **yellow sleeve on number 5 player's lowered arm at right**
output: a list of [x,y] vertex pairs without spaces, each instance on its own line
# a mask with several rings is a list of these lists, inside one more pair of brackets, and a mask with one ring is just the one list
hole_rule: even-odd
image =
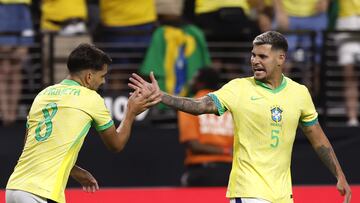
[[308,89],[303,86],[302,91],[302,108],[301,108],[301,116],[300,123],[303,126],[312,126],[318,121],[318,113],[316,112],[314,103],[311,99],[311,95]]

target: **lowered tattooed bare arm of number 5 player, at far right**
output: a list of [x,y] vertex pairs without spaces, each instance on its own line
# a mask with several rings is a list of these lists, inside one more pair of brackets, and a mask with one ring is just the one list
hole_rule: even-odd
[[319,123],[313,126],[302,127],[303,132],[310,141],[313,149],[331,171],[331,173],[337,178],[337,189],[341,195],[345,195],[344,203],[349,203],[351,200],[351,189],[346,180],[346,177],[341,169],[335,152],[327,139],[324,131],[321,129]]

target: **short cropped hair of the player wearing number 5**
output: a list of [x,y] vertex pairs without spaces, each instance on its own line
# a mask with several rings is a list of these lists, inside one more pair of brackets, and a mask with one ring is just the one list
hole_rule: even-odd
[[270,44],[271,49],[283,50],[287,52],[288,43],[284,35],[276,31],[267,31],[257,37],[253,41],[253,45]]

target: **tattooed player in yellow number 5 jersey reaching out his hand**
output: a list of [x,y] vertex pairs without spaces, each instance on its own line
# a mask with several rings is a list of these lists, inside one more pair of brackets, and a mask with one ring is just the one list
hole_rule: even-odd
[[253,77],[234,79],[201,98],[176,97],[133,74],[129,86],[162,94],[161,102],[191,114],[232,114],[233,164],[226,196],[231,203],[292,203],[291,152],[300,124],[313,149],[337,178],[350,202],[351,190],[334,150],[317,120],[308,89],[283,75],[288,44],[274,31],[253,41]]

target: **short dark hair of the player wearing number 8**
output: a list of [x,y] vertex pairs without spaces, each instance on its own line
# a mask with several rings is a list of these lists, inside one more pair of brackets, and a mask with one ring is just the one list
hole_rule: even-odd
[[111,64],[111,58],[94,45],[82,43],[69,55],[67,67],[70,73],[82,70],[102,70],[104,64]]

